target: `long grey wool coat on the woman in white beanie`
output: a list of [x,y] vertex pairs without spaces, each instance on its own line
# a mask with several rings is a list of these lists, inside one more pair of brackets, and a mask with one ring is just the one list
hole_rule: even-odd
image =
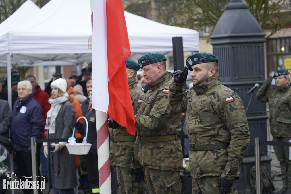
[[[69,101],[62,103],[61,109],[56,117],[56,128],[54,138],[68,139],[73,134],[73,122],[75,119],[75,110],[73,105]],[[60,158],[60,166],[58,166],[58,157]],[[48,157],[49,158],[49,157]],[[48,160],[48,166],[50,169],[50,161]],[[71,155],[68,152],[67,147],[64,147],[60,151],[54,153],[54,169],[59,174],[55,175],[55,187],[58,189],[68,189],[77,186],[76,170],[75,170],[75,155]],[[50,174],[49,170],[49,180]]]

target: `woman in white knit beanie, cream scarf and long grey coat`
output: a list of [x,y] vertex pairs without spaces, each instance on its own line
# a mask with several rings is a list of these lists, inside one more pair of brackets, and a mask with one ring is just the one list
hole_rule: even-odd
[[[67,81],[63,78],[54,80],[51,83],[52,93],[49,103],[52,105],[47,112],[45,129],[48,129],[47,138],[68,139],[73,133],[73,122],[75,111],[68,100]],[[75,172],[75,156],[70,155],[65,142],[43,143],[44,154],[48,158],[49,181],[51,182],[54,194],[74,194],[74,187],[77,186]],[[49,148],[49,149],[48,149]]]

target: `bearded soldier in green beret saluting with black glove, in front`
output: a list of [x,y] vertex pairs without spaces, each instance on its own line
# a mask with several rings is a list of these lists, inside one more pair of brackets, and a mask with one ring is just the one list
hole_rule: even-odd
[[186,61],[194,91],[183,89],[188,70],[174,72],[169,101],[186,113],[192,193],[237,193],[239,163],[249,141],[249,127],[238,94],[219,82],[218,58],[196,53]]

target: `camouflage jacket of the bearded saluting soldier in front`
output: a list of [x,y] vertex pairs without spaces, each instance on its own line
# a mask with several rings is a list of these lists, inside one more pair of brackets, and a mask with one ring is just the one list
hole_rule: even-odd
[[[185,83],[184,83],[185,84]],[[242,100],[223,86],[216,73],[194,87],[172,82],[169,101],[175,112],[186,113],[186,129],[190,143],[229,143],[227,149],[189,152],[191,176],[239,177],[239,163],[249,141],[249,127]]]

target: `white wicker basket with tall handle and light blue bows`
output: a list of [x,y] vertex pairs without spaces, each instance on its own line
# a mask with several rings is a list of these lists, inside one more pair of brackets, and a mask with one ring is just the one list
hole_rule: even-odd
[[[66,143],[66,147],[69,151],[69,154],[72,154],[72,155],[86,155],[88,154],[92,146],[92,144],[87,143],[88,121],[85,117],[80,117],[79,119],[81,118],[83,118],[86,121],[86,135],[83,138],[83,143],[75,143],[75,144]],[[79,119],[77,119],[77,122],[79,121]],[[74,134],[75,134],[75,127],[73,129],[73,135],[71,138],[74,138]]]

